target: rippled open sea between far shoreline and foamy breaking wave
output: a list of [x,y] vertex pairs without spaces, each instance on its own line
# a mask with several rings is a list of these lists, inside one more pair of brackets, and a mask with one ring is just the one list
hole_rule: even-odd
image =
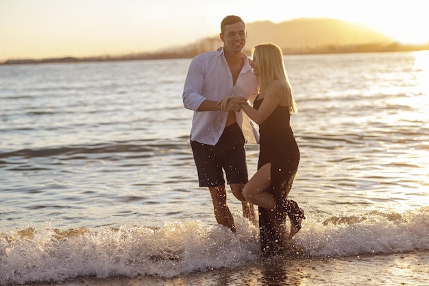
[[[323,206],[326,215],[427,202],[428,81],[416,79],[429,72],[428,54],[284,57],[299,108],[291,118],[302,152],[295,199],[312,210]],[[2,227],[53,218],[64,227],[118,226],[142,217],[160,226],[165,215],[211,224],[188,142],[192,112],[181,97],[189,62],[0,67],[0,176],[9,219]],[[247,158],[253,174],[258,146],[247,146]],[[176,211],[166,214],[171,204]]]

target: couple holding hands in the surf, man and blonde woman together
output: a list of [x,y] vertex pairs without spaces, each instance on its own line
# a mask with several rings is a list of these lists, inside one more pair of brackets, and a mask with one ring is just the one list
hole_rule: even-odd
[[[259,206],[261,249],[268,256],[278,254],[304,218],[302,208],[287,199],[299,163],[289,124],[296,108],[280,48],[257,45],[250,61],[243,53],[246,36],[240,17],[223,19],[223,49],[192,60],[183,102],[194,110],[191,147],[199,186],[210,190],[217,222],[236,231],[224,170],[232,193],[242,202],[243,215],[254,220],[253,204]],[[258,123],[260,133],[258,171],[249,181],[244,144],[258,143],[258,134],[242,111]],[[284,228],[286,215],[291,220],[289,235]]]

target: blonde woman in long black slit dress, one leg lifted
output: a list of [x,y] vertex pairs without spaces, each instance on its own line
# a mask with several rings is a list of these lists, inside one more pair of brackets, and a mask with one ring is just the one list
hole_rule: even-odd
[[[299,148],[290,126],[291,114],[297,109],[280,47],[272,43],[256,45],[252,56],[251,66],[260,92],[253,107],[243,98],[241,108],[259,125],[260,154],[258,171],[245,184],[243,195],[248,202],[265,209],[269,218],[263,223],[269,224],[274,233],[264,235],[275,236],[271,240],[284,246],[301,229],[305,218],[304,210],[287,199],[299,163]],[[225,106],[226,102],[228,98],[219,104]],[[286,214],[291,220],[289,235],[284,230]]]

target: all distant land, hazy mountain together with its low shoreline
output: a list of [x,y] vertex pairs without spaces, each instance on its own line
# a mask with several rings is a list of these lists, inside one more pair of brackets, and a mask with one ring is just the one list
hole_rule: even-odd
[[[337,19],[295,19],[282,23],[260,21],[247,24],[245,53],[259,43],[272,42],[284,54],[300,53],[354,53],[373,51],[420,51],[428,45],[401,45],[383,34],[367,27]],[[132,53],[123,56],[98,56],[87,58],[47,58],[42,60],[7,60],[4,64],[40,62],[95,62],[106,60],[144,60],[153,58],[192,58],[204,51],[221,47],[219,34],[208,36],[182,47],[169,47],[156,52]],[[1,64],[1,63],[0,63]]]

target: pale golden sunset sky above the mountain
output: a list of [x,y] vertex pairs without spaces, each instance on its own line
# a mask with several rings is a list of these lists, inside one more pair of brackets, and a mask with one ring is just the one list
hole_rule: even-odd
[[0,0],[0,61],[154,51],[219,34],[228,14],[247,23],[328,17],[429,41],[421,0]]

